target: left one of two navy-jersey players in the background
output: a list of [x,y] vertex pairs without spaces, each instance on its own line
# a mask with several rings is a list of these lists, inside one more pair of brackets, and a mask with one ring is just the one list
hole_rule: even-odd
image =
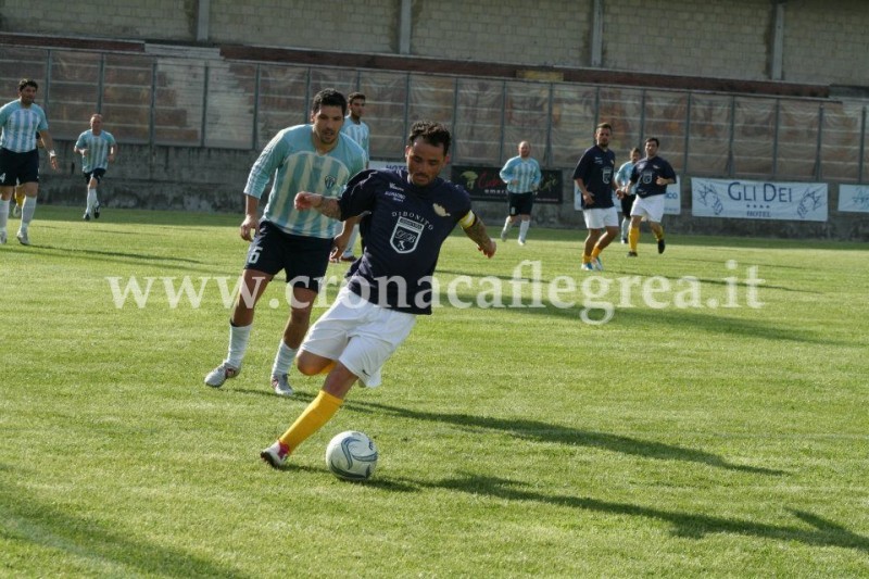
[[574,182],[582,192],[582,216],[589,235],[582,251],[582,269],[603,269],[601,252],[618,236],[618,214],[613,203],[616,153],[609,150],[613,127],[601,123],[594,130],[594,147],[579,158]]

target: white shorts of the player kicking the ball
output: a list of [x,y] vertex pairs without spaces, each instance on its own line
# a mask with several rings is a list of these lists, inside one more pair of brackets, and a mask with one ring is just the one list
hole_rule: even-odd
[[380,368],[416,324],[416,316],[380,307],[341,288],[331,307],[311,326],[299,350],[338,360],[363,386],[380,386]]

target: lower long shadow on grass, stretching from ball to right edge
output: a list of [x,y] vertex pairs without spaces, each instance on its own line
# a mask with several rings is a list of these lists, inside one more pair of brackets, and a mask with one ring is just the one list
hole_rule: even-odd
[[628,515],[632,517],[664,520],[673,526],[673,534],[688,539],[703,539],[707,534],[731,533],[758,537],[761,539],[774,539],[785,542],[796,541],[813,546],[854,549],[864,553],[869,553],[868,538],[854,533],[841,525],[836,525],[804,511],[790,509],[795,517],[811,528],[803,528],[795,525],[777,526],[753,523],[751,520],[676,513],[662,508],[601,501],[597,499],[543,494],[522,489],[525,483],[521,482],[477,475],[464,475],[461,478],[445,479],[434,483],[421,483],[421,486],[466,492],[474,495],[486,494],[500,500],[534,501],[608,515]]

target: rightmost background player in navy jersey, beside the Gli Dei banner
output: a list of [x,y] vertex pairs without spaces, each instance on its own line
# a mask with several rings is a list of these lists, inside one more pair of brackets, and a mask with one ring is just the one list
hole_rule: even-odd
[[628,257],[637,257],[637,246],[640,242],[640,223],[645,218],[658,242],[658,253],[664,253],[664,203],[667,198],[667,186],[676,182],[676,172],[670,164],[658,156],[660,142],[655,137],[645,140],[645,159],[633,165],[629,188],[637,185],[637,199],[631,207],[631,230],[628,235],[630,251]]

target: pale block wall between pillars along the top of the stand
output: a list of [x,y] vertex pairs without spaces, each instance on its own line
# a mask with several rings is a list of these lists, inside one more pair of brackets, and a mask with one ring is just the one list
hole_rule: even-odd
[[[602,68],[767,80],[773,0],[600,0]],[[402,0],[0,1],[0,32],[193,42],[207,40],[399,52]],[[594,0],[414,0],[411,53],[450,60],[591,66]],[[869,86],[866,0],[784,0],[783,80]]]

